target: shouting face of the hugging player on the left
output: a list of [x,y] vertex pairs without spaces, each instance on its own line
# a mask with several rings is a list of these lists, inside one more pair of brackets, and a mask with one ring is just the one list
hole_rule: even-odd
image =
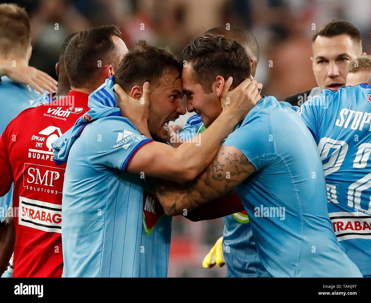
[[152,138],[165,143],[169,121],[186,113],[182,79],[175,69],[165,68],[161,78],[151,85],[150,117],[148,128]]

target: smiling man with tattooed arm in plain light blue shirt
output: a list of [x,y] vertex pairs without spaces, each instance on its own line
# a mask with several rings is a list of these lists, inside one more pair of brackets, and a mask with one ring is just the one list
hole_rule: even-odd
[[[249,58],[238,49],[243,48],[237,42],[206,35],[183,50],[183,90],[205,127],[221,112],[224,79],[241,81],[250,74],[250,65],[241,69]],[[235,188],[270,276],[360,277],[332,231],[324,177],[305,124],[271,96],[249,111],[200,176],[184,186],[165,182],[157,196],[167,214],[177,215]]]

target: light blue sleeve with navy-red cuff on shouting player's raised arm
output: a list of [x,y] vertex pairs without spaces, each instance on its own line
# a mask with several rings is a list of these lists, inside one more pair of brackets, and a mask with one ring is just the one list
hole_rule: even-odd
[[124,117],[99,119],[90,125],[85,135],[88,136],[88,163],[96,170],[107,167],[126,170],[134,154],[153,141],[141,135]]

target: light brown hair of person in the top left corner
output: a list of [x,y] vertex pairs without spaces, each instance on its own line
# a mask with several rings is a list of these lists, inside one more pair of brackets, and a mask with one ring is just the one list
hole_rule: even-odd
[[[16,4],[0,4],[0,52],[8,56],[26,56],[31,45],[30,19],[26,10]],[[28,58],[27,58],[28,59]]]

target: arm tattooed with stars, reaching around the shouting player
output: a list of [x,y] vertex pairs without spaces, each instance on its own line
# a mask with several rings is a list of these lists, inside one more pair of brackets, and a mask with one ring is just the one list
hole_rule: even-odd
[[233,146],[223,145],[209,167],[191,182],[178,184],[159,180],[156,195],[165,213],[183,214],[207,202],[228,195],[255,172],[253,164]]

